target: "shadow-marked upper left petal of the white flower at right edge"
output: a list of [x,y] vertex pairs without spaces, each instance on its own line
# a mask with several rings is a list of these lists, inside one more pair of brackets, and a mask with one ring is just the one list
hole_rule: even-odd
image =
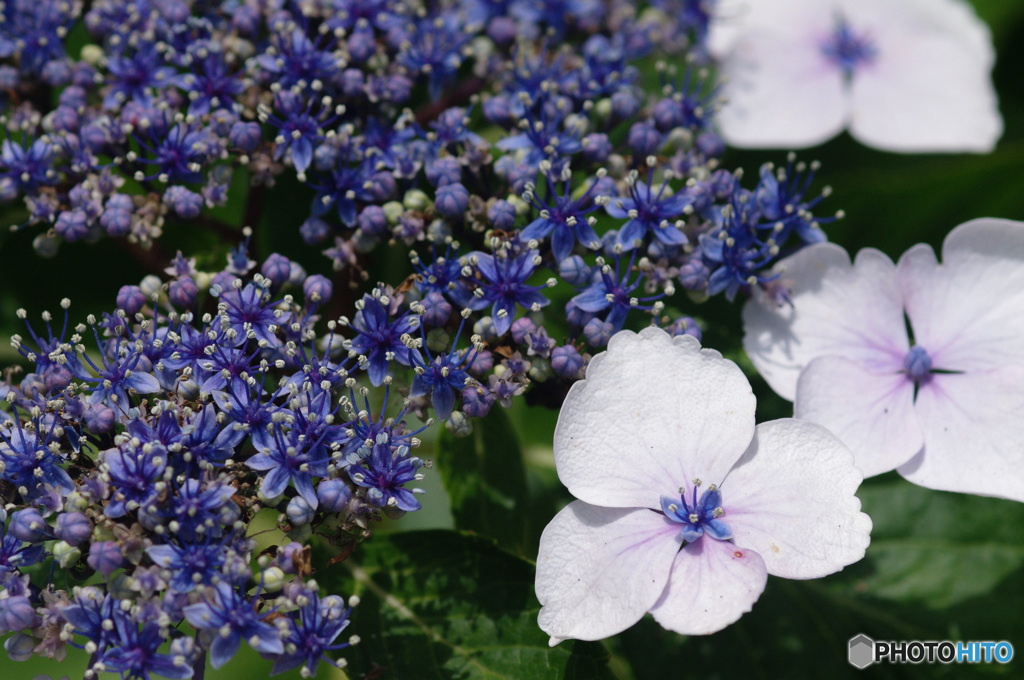
[[876,372],[902,369],[909,349],[896,267],[867,248],[854,263],[835,244],[809,246],[779,263],[792,306],[752,299],[743,348],[779,395],[793,400],[805,366],[840,354]]

